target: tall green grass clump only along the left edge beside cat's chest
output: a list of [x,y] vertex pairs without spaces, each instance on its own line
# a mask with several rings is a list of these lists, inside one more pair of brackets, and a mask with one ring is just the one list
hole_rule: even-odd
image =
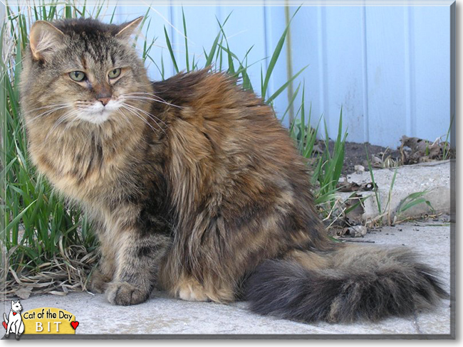
[[[0,63],[0,178],[4,183],[0,189],[0,240],[2,249],[9,252],[11,267],[8,276],[3,275],[11,279],[12,273],[20,276],[36,273],[43,265],[55,266],[56,257],[68,258],[71,245],[83,245],[85,252],[91,254],[96,242],[83,213],[59,198],[28,159],[17,87],[21,80],[22,53],[28,42],[28,23],[21,12],[10,7],[6,11],[9,21],[1,28],[0,40],[0,50],[9,50]],[[31,8],[34,20],[77,13],[78,9],[73,8],[60,12],[57,6]]]

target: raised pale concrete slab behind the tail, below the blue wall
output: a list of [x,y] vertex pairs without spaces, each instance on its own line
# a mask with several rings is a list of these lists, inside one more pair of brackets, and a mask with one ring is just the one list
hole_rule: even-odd
[[[427,191],[423,196],[430,201],[432,208],[436,213],[450,213],[450,161],[432,161],[429,163],[400,166],[397,168],[392,193],[390,188],[392,178],[395,173],[394,169],[377,169],[373,170],[375,183],[378,185],[380,196],[380,205],[383,212],[390,212],[391,220],[397,215],[397,209],[400,203],[412,193]],[[368,183],[371,182],[369,171],[363,173],[352,173],[348,175],[349,182]],[[344,201],[351,193],[338,193],[341,201]],[[370,196],[365,200],[365,213],[363,220],[372,220],[378,215],[378,203],[376,202],[373,191],[358,192],[360,196]],[[389,197],[390,195],[390,197]],[[389,202],[389,205],[387,204]],[[387,207],[387,208],[386,208]],[[429,214],[432,209],[429,205],[421,203],[400,213],[400,219],[407,217],[417,217]]]

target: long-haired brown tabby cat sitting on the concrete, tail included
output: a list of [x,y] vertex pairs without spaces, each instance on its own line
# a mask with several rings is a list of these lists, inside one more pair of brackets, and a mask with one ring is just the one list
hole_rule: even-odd
[[33,24],[21,106],[33,163],[90,215],[90,287],[139,304],[244,298],[299,321],[410,314],[446,292],[403,248],[332,242],[307,167],[271,107],[224,73],[150,82],[141,18]]

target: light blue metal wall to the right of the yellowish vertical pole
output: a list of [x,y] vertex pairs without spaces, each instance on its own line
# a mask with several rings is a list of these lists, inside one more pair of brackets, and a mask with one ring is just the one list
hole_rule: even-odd
[[292,28],[293,66],[311,63],[306,100],[331,136],[341,105],[353,142],[447,134],[449,6],[306,7]]

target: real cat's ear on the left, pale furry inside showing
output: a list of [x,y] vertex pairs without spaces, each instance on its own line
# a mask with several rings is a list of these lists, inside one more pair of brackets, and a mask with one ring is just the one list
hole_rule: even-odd
[[35,60],[46,60],[63,41],[64,33],[46,21],[36,21],[31,26],[29,45]]

